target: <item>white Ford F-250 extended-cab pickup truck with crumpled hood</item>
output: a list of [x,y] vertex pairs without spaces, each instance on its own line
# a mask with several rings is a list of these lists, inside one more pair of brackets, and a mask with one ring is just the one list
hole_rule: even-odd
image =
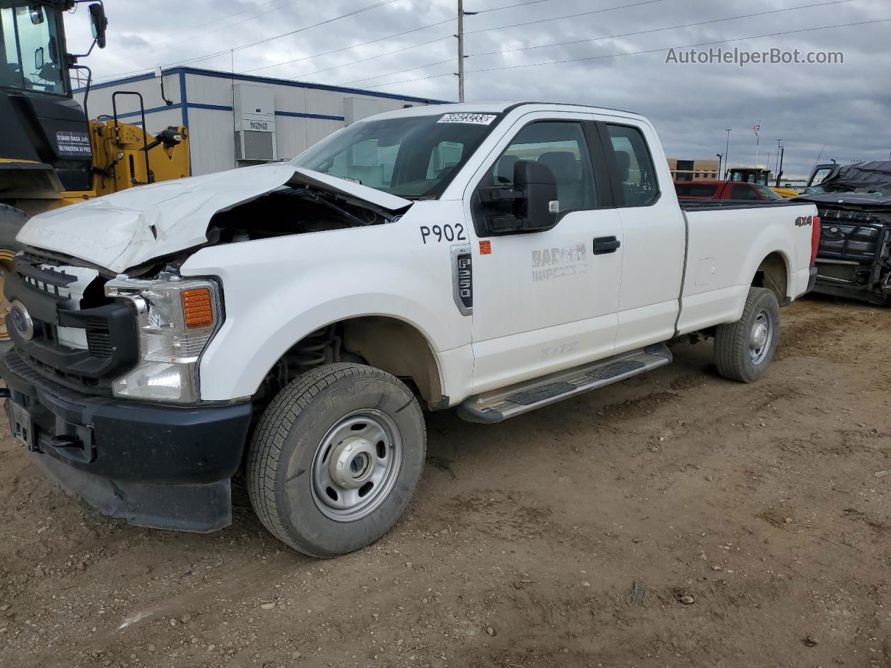
[[680,206],[650,122],[567,104],[381,114],[290,163],[32,218],[5,280],[12,433],[69,493],[212,531],[246,473],[316,557],[392,527],[424,411],[493,423],[715,338],[764,374],[813,283],[813,204]]

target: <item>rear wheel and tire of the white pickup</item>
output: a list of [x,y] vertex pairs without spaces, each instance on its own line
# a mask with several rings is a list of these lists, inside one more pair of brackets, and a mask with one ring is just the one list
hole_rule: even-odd
[[718,325],[715,364],[725,379],[754,383],[770,367],[780,340],[780,304],[766,288],[750,288],[742,317]]

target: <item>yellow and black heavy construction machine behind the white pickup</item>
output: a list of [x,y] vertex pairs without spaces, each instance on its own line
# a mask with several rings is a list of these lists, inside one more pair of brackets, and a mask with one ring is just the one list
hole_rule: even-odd
[[[112,118],[88,120],[92,73],[78,64],[105,47],[108,20],[102,0],[88,5],[89,52],[67,51],[62,12],[89,0],[0,0],[0,354],[8,346],[4,275],[12,271],[21,226],[52,208],[144,183],[189,175],[184,126],[157,135]],[[70,72],[87,72],[84,107],[73,99]],[[136,95],[127,91],[114,94]],[[113,105],[117,109],[117,105]]]

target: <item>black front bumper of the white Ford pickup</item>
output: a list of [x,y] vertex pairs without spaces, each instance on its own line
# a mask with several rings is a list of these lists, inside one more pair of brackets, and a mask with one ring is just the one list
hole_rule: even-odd
[[13,435],[67,493],[137,526],[209,532],[232,522],[250,402],[175,407],[78,393],[12,350],[0,377]]

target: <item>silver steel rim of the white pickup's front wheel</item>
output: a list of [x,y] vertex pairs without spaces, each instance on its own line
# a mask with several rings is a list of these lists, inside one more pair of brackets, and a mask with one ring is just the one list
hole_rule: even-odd
[[315,449],[313,501],[337,522],[367,517],[386,501],[401,464],[396,423],[381,411],[354,411],[338,420]]

